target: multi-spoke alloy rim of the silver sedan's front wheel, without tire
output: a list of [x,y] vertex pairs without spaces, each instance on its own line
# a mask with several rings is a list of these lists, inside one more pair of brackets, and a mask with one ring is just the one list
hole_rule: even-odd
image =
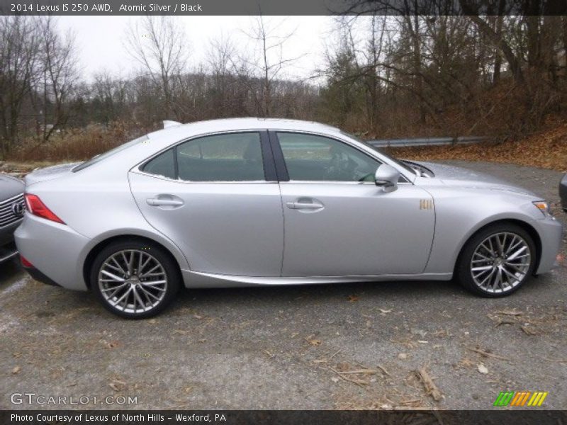
[[522,283],[531,262],[532,252],[524,238],[512,232],[498,232],[476,246],[471,276],[486,293],[505,293]]

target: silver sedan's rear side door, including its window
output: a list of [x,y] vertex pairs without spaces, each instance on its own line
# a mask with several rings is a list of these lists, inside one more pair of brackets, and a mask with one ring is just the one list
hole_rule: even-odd
[[192,271],[280,275],[283,214],[266,132],[193,138],[129,178],[146,220],[181,248]]

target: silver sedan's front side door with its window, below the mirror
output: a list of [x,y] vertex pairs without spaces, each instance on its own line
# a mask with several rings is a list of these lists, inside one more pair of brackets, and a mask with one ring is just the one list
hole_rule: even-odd
[[[285,222],[282,276],[421,273],[434,232],[432,197],[402,178],[386,193],[381,164],[344,141],[271,132]],[[426,206],[427,208],[425,208]]]

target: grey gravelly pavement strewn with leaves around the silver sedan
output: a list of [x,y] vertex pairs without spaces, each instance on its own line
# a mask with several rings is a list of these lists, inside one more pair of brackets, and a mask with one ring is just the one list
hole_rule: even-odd
[[[556,171],[448,163],[517,181],[567,221]],[[137,397],[79,406],[105,409],[491,409],[501,390],[547,391],[544,408],[567,409],[565,263],[498,300],[451,282],[191,290],[136,322],[15,264],[0,276],[0,409],[65,407],[11,404],[23,392]]]

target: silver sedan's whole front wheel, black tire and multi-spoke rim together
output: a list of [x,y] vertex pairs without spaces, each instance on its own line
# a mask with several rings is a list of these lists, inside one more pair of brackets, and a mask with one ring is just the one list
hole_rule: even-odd
[[532,276],[536,260],[536,246],[528,232],[517,225],[495,224],[468,239],[457,260],[455,276],[472,293],[505,297]]

